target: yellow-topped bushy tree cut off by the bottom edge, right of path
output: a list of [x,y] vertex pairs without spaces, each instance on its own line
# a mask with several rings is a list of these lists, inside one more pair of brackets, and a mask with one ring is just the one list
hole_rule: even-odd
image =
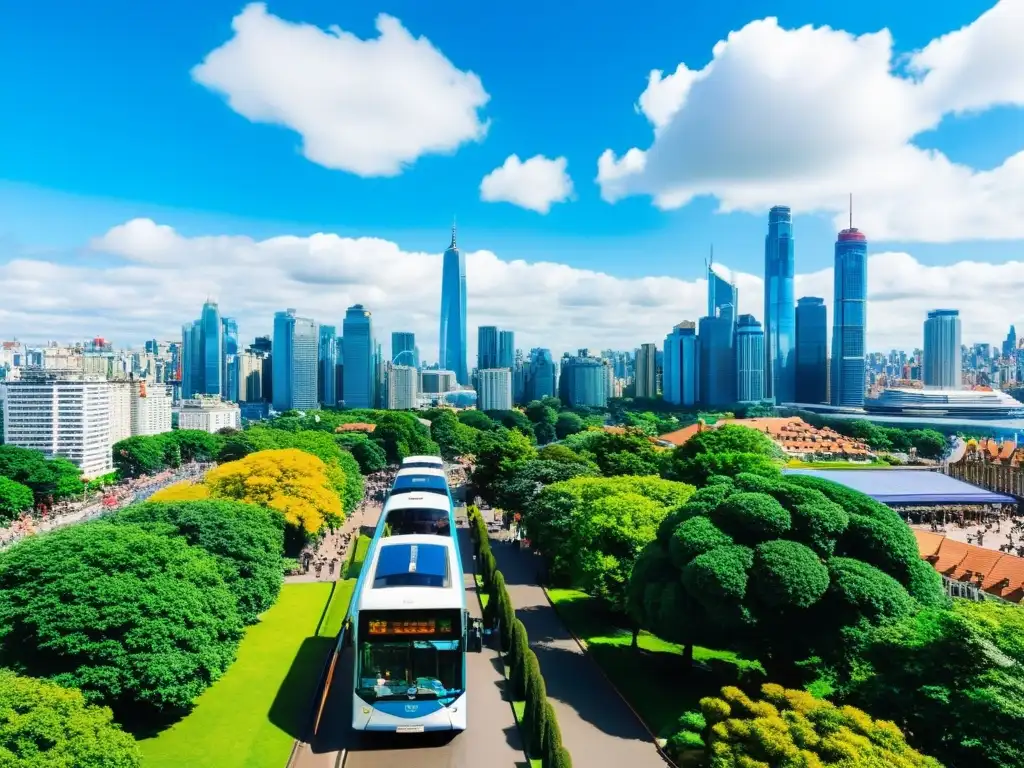
[[941,768],[893,723],[773,683],[754,700],[738,688],[700,699],[710,768]]

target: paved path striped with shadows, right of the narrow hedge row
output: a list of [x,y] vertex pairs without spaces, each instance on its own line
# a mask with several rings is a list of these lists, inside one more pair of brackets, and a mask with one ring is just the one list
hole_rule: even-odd
[[580,649],[537,585],[540,558],[495,537],[490,545],[516,616],[526,628],[530,647],[541,663],[548,698],[572,764],[584,768],[665,768],[665,760],[643,724],[597,664]]

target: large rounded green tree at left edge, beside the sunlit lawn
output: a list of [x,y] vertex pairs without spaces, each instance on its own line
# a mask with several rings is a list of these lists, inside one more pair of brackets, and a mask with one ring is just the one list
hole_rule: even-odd
[[126,719],[187,709],[234,657],[234,596],[179,538],[90,522],[0,555],[0,657]]

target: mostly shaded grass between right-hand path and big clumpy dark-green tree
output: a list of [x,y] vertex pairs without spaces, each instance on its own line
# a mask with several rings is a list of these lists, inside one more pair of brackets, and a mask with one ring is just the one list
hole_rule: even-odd
[[[718,676],[686,669],[681,645],[641,632],[637,652],[631,647],[630,631],[614,626],[594,598],[566,589],[549,589],[548,596],[565,626],[584,641],[620,693],[659,737],[672,735],[680,716],[698,709],[700,698],[719,692],[723,682]],[[757,666],[731,651],[701,647],[693,648],[693,659],[719,659],[740,669]]]

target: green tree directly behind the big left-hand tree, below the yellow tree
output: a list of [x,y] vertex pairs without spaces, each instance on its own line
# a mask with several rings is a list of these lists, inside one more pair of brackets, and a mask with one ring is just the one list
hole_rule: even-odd
[[256,624],[281,593],[285,518],[279,512],[228,501],[150,502],[122,510],[113,522],[183,537],[217,558],[246,624]]

